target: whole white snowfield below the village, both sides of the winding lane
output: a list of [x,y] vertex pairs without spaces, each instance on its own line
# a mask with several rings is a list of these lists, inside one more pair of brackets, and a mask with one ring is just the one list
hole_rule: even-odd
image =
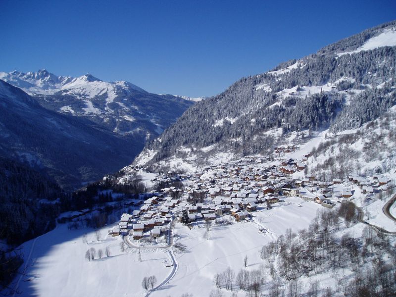
[[[231,267],[237,273],[248,259],[248,270],[257,269],[263,262],[259,249],[276,240],[286,229],[293,231],[307,228],[316,210],[321,208],[314,202],[303,202],[300,198],[288,198],[290,203],[278,203],[271,210],[256,212],[249,222],[234,222],[232,225],[213,224],[206,239],[203,222],[189,229],[177,223],[174,229],[175,242],[187,248],[178,253],[178,267],[169,283],[152,292],[151,296],[179,296],[193,293],[208,296],[214,289],[213,276]],[[297,206],[301,204],[302,207]],[[21,246],[26,263],[26,275],[19,281],[22,296],[144,296],[142,280],[155,275],[157,284],[171,274],[172,267],[165,249],[142,248],[142,262],[138,250],[127,247],[120,250],[120,237],[107,236],[106,226],[100,230],[98,242],[93,229],[69,230],[66,224]],[[265,230],[265,231],[264,231]],[[88,244],[83,242],[87,234]],[[89,262],[85,253],[91,247],[103,251],[101,259]],[[110,248],[110,257],[104,251]],[[23,264],[23,266],[25,265]],[[236,288],[235,288],[236,289]],[[241,291],[242,292],[242,291]]]

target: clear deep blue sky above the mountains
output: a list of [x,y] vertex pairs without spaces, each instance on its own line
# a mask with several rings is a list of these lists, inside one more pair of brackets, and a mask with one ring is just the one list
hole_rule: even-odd
[[395,0],[0,0],[0,71],[211,96],[394,19]]

